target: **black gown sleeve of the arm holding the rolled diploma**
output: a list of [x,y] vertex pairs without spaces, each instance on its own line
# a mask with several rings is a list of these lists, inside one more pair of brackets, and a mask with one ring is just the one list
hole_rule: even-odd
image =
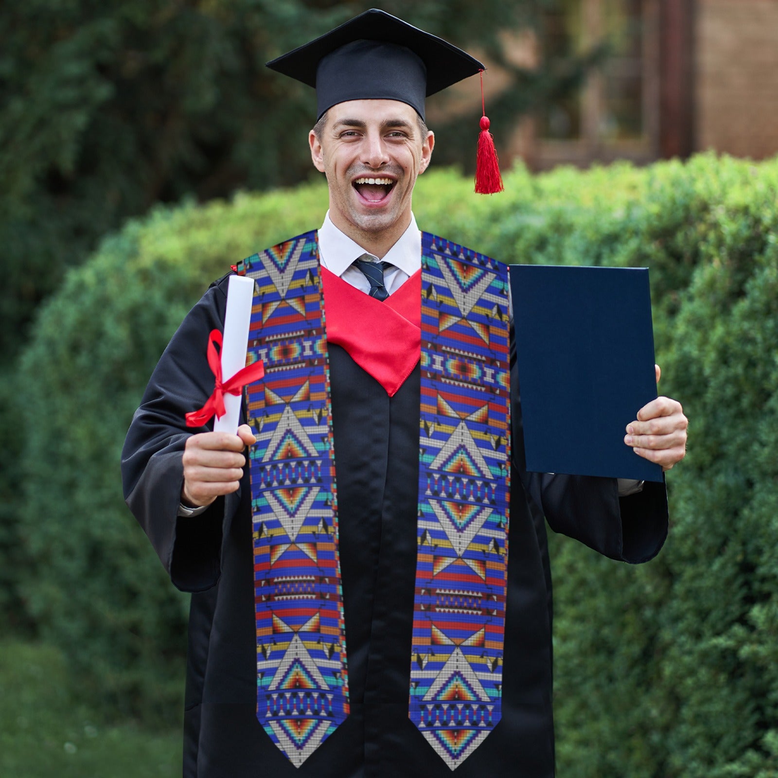
[[159,358],[121,454],[124,499],[182,591],[205,591],[219,580],[223,524],[240,502],[237,492],[198,516],[178,516],[184,444],[207,431],[187,427],[184,417],[213,390],[207,345],[212,329],[223,330],[227,278],[212,284]]

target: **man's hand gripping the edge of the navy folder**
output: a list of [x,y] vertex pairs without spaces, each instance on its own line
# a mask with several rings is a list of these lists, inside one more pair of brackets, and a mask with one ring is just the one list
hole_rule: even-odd
[[[661,376],[659,365],[657,384]],[[632,446],[636,454],[661,464],[669,470],[686,455],[686,428],[689,419],[683,413],[681,403],[668,397],[657,397],[643,405],[637,419],[627,425],[624,442]]]

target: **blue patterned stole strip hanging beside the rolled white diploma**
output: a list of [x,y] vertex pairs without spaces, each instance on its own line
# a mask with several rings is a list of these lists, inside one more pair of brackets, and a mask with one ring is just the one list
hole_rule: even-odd
[[317,233],[254,254],[247,361],[257,717],[299,767],[349,714]]

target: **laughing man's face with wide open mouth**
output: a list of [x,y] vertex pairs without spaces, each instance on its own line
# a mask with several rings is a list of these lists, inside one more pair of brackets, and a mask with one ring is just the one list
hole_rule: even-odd
[[411,220],[413,186],[435,142],[412,107],[398,100],[349,100],[328,110],[314,165],[327,176],[332,223],[352,239],[400,237]]

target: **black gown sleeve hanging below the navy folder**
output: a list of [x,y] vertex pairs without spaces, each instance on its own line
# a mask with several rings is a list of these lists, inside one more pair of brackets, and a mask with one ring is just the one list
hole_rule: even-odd
[[543,513],[553,531],[575,538],[611,559],[638,563],[657,555],[668,534],[664,482],[647,481],[641,492],[619,497],[616,478],[528,472],[513,340],[510,386],[513,465],[531,509]]

